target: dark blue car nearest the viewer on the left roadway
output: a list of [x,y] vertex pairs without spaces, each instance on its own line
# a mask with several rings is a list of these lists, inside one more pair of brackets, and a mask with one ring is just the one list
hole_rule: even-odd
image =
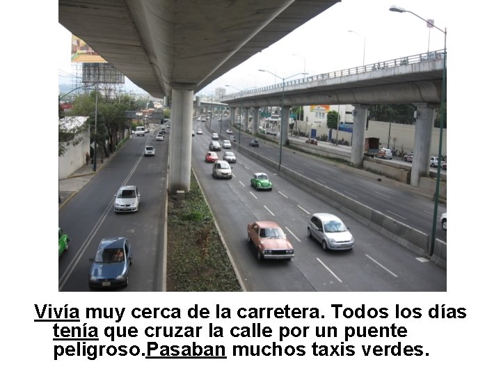
[[132,247],[127,237],[105,237],[96,256],[89,259],[88,284],[90,288],[127,286],[132,265]]

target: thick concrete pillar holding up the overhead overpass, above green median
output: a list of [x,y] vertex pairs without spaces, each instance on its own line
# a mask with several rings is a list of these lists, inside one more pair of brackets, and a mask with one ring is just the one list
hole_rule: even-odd
[[189,192],[191,176],[191,130],[193,127],[193,90],[173,86],[169,135],[168,193]]

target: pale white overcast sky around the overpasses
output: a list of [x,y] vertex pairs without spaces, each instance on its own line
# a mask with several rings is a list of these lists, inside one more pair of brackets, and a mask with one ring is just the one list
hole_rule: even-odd
[[[396,5],[411,10],[424,19],[434,19],[436,26],[445,29],[449,22],[447,16],[451,13],[450,4],[437,0],[343,0],[216,79],[201,92],[212,93],[214,88],[225,85],[243,90],[280,81],[267,72],[259,72],[260,68],[279,77],[289,77],[303,72],[303,68],[308,75],[317,75],[356,67],[364,61],[364,40],[366,64],[420,54],[428,48],[430,51],[443,49],[443,33],[430,30],[426,22],[411,13],[395,13],[388,9]],[[59,70],[72,74],[71,33],[61,24],[58,24],[58,46]],[[63,82],[61,76],[60,82]],[[228,93],[232,91],[234,89],[227,88]]]

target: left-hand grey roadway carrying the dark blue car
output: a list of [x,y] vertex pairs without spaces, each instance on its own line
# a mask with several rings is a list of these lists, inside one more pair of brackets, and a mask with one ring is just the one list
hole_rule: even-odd
[[[71,252],[59,258],[59,290],[88,291],[91,257],[103,237],[125,236],[131,241],[133,265],[129,285],[118,291],[160,291],[166,212],[168,138],[155,141],[155,132],[132,136],[72,200],[59,210],[59,223],[71,234]],[[168,135],[167,135],[168,136]],[[154,157],[144,157],[146,144]],[[121,185],[137,185],[139,210],[116,214],[114,194]]]

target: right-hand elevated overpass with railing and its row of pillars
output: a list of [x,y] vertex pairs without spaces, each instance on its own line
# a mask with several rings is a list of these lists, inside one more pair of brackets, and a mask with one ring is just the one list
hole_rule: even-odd
[[[415,150],[411,185],[419,186],[420,178],[429,175],[431,134],[435,111],[442,97],[445,52],[427,52],[395,58],[336,72],[284,81],[280,84],[226,95],[223,101],[234,109],[244,108],[244,124],[248,109],[254,108],[255,124],[259,124],[260,107],[283,106],[280,143],[287,143],[289,111],[293,106],[309,104],[353,104],[353,140],[351,162],[361,167],[364,157],[367,108],[372,104],[413,103],[417,105]],[[267,74],[264,72],[264,74]],[[257,132],[257,127],[254,127]]]

